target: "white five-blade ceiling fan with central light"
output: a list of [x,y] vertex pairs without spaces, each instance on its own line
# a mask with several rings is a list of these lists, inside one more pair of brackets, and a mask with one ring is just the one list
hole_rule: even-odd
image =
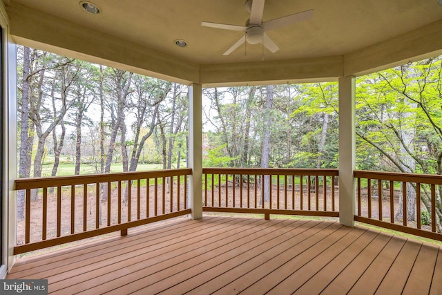
[[291,25],[292,23],[296,23],[298,21],[309,19],[313,16],[313,9],[262,22],[264,3],[265,0],[247,0],[246,9],[250,12],[250,19],[247,26],[236,26],[225,23],[210,23],[207,21],[203,21],[201,26],[245,32],[244,37],[241,37],[238,41],[236,41],[236,43],[233,44],[233,46],[231,46],[231,48],[229,48],[225,53],[223,53],[223,55],[231,54],[233,50],[236,50],[236,48],[240,47],[245,41],[247,41],[249,44],[262,43],[262,45],[270,50],[271,53],[276,53],[276,51],[279,50],[279,47],[270,39],[266,32],[282,26]]

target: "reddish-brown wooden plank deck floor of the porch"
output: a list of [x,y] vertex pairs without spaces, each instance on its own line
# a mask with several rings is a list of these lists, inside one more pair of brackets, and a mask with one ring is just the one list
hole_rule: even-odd
[[442,249],[320,220],[180,218],[19,260],[50,294],[442,294]]

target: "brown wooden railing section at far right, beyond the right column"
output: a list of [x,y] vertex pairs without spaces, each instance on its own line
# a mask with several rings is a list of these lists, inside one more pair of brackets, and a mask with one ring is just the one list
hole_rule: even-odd
[[354,220],[442,240],[442,234],[437,233],[442,209],[442,175],[354,171],[354,177],[357,182]]

